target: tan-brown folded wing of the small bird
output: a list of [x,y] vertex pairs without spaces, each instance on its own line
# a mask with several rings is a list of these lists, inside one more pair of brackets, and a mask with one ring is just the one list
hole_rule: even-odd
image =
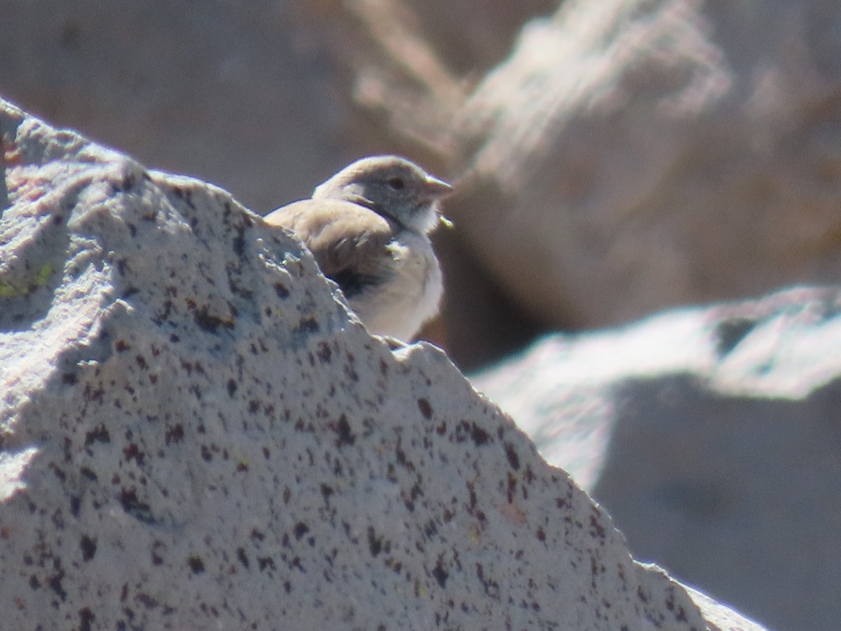
[[372,210],[333,199],[304,199],[263,219],[304,241],[321,272],[348,298],[389,278],[394,230]]

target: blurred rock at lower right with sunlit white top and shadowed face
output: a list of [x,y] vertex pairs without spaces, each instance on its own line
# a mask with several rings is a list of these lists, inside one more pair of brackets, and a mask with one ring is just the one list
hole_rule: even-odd
[[554,335],[473,377],[632,553],[778,629],[841,619],[841,290]]

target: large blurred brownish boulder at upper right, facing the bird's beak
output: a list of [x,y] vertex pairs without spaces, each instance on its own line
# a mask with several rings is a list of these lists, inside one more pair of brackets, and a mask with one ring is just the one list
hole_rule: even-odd
[[564,2],[458,117],[448,212],[562,328],[841,273],[841,4]]

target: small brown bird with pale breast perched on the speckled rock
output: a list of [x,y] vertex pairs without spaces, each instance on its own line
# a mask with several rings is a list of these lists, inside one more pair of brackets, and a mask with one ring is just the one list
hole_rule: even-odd
[[439,209],[450,193],[414,162],[373,156],[264,219],[304,241],[368,332],[409,342],[441,302],[441,268],[428,235],[439,223],[452,225]]

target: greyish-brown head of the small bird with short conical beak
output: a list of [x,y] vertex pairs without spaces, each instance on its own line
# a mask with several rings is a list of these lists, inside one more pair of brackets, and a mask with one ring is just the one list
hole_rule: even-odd
[[427,234],[439,221],[439,200],[452,186],[399,156],[357,160],[315,188],[313,199],[341,199],[372,209],[410,230]]

